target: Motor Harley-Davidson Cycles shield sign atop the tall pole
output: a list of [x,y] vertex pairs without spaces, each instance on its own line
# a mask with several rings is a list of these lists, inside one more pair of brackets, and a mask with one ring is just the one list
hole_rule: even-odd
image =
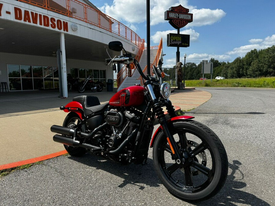
[[169,20],[172,27],[180,29],[193,21],[193,14],[188,13],[189,9],[182,5],[171,7],[164,13],[164,20]]

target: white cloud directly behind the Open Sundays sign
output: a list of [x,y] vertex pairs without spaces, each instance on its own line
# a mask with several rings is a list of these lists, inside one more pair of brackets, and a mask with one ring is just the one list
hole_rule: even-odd
[[[167,31],[157,31],[156,34],[151,36],[151,39],[154,43],[159,43],[160,38],[162,38],[163,42],[167,42],[167,34],[174,33],[177,34],[177,30],[167,30]],[[184,31],[180,31],[180,34],[189,34],[190,41],[195,42],[199,38],[199,33],[193,29],[186,29]]]

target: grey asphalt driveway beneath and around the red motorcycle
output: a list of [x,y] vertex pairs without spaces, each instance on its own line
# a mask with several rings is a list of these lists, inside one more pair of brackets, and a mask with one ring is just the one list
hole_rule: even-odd
[[187,115],[222,140],[229,173],[220,193],[190,204],[173,197],[152,165],[121,166],[90,154],[61,156],[0,179],[0,205],[275,205],[275,90],[205,89]]

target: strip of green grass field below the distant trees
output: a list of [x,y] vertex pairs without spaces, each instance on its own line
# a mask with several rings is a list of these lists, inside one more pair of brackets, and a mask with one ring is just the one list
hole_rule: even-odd
[[185,80],[186,87],[257,87],[275,88],[275,77],[269,78],[241,78],[241,79],[210,79]]

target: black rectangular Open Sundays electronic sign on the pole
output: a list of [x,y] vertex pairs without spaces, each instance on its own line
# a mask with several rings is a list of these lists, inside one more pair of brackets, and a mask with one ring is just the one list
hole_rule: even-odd
[[189,47],[190,35],[189,34],[167,34],[167,46],[174,47]]

